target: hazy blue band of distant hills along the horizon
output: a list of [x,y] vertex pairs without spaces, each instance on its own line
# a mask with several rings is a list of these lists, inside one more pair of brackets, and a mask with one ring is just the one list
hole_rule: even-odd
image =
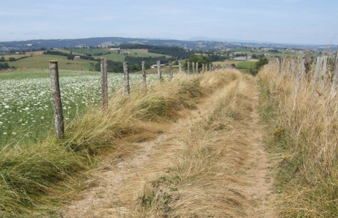
[[[273,44],[258,43],[251,41],[227,42],[219,41],[220,39],[196,37],[196,40],[175,40],[175,39],[138,39],[123,37],[95,37],[87,39],[35,39],[27,41],[2,41],[0,42],[0,53],[8,51],[21,51],[26,49],[39,48],[65,48],[76,46],[119,46],[120,44],[145,44],[157,46],[178,46],[184,49],[193,50],[220,50],[230,49],[238,46],[249,46],[253,48],[293,48],[293,49],[330,49],[337,48],[335,45],[289,45],[289,44]],[[210,40],[209,40],[210,39]]]

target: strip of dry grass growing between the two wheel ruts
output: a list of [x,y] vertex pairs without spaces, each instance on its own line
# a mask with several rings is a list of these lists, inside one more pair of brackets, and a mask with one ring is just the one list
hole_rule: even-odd
[[220,90],[177,136],[176,152],[163,160],[172,167],[145,186],[138,198],[139,217],[245,216],[248,202],[239,172],[246,152],[238,145],[245,136],[235,129],[252,111],[247,96],[253,79],[236,70],[218,74],[227,85],[215,82],[213,75],[202,77],[202,85]]

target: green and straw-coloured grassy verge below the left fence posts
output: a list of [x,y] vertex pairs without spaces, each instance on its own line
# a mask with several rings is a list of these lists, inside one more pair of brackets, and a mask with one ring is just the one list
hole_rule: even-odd
[[[0,217],[51,217],[67,193],[82,186],[86,169],[113,152],[118,140],[134,135],[142,140],[156,134],[149,123],[172,122],[180,111],[196,107],[234,75],[179,75],[151,86],[144,94],[134,89],[129,97],[116,94],[107,113],[91,110],[66,127],[66,138],[54,136],[28,145],[5,146],[0,151]],[[84,174],[85,175],[85,174]]]

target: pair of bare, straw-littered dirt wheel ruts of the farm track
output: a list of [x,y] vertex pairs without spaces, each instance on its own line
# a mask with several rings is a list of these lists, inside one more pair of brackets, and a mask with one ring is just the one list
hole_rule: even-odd
[[[173,153],[179,153],[177,140],[187,131],[191,120],[201,115],[201,110],[210,107],[213,96],[205,98],[186,117],[172,124],[166,124],[152,141],[126,143],[130,152],[109,155],[104,166],[96,173],[96,183],[79,193],[77,199],[62,209],[62,217],[142,217],[135,213],[137,198],[144,195],[148,181],[161,177],[174,160]],[[233,148],[227,148],[231,156],[232,149],[241,146],[245,155],[241,159],[244,182],[237,185],[242,192],[245,204],[241,217],[275,217],[273,213],[274,195],[271,191],[273,181],[270,178],[272,167],[269,155],[263,148],[263,127],[259,124],[257,113],[258,91],[250,91],[249,119],[233,123],[233,132],[244,136]],[[239,153],[239,151],[234,151]],[[239,154],[240,155],[240,154]],[[169,162],[169,164],[168,164]],[[221,164],[221,163],[220,163]]]

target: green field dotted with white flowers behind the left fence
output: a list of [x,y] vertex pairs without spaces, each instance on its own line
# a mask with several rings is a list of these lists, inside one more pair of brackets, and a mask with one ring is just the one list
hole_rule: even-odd
[[[148,82],[156,75],[147,75]],[[142,75],[130,75],[131,86],[142,83]],[[27,70],[0,74],[0,147],[42,140],[53,131],[54,111],[49,70]],[[101,107],[101,73],[60,71],[65,124],[81,116],[88,107]],[[110,95],[123,89],[123,74],[108,73]]]

